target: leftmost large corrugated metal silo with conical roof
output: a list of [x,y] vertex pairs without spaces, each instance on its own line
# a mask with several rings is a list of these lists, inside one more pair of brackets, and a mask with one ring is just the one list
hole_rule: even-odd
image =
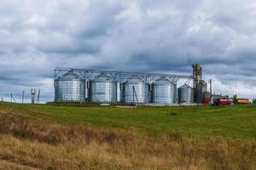
[[73,71],[55,79],[55,101],[85,101],[85,82]]

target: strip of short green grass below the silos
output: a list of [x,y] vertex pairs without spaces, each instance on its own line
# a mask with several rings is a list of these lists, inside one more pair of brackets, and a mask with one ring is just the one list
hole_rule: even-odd
[[46,116],[56,122],[91,127],[136,128],[146,133],[256,139],[256,105],[139,107],[55,106],[0,103],[1,110]]

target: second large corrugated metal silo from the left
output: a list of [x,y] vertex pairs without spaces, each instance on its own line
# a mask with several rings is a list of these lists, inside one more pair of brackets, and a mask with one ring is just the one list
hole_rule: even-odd
[[117,82],[105,74],[90,81],[90,101],[100,103],[117,102]]

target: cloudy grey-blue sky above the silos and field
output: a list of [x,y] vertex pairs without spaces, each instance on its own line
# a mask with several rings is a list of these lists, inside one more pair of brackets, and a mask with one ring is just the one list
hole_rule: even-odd
[[191,74],[256,97],[255,0],[1,0],[0,97],[40,88],[55,67]]

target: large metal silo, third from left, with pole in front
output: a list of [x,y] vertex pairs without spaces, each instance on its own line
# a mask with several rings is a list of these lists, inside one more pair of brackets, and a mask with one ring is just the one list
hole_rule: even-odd
[[[125,103],[132,103],[134,97],[134,102],[136,103],[148,103],[148,87],[149,84],[144,82],[140,77],[133,76],[128,78],[128,80],[123,83],[122,101]],[[136,95],[134,95],[134,91]]]

